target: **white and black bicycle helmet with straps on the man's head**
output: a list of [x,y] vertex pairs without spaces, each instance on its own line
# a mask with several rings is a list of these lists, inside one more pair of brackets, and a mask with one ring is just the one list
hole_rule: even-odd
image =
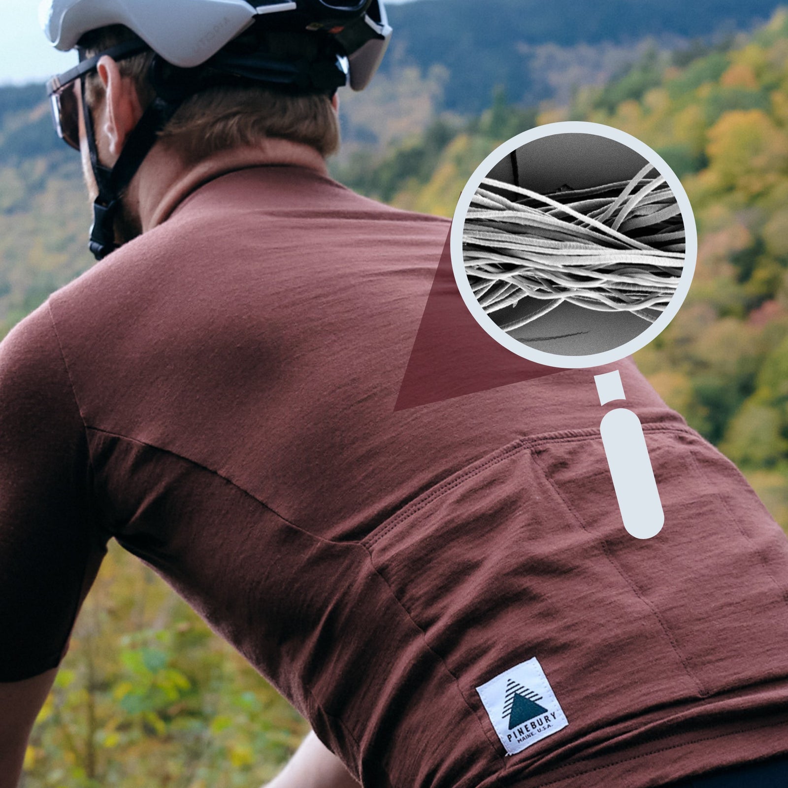
[[[39,13],[46,37],[59,50],[79,48],[85,33],[110,25],[125,25],[138,36],[90,58],[80,49],[80,63],[46,86],[58,135],[79,149],[74,91],[79,80],[87,147],[99,187],[89,243],[97,259],[116,248],[114,221],[121,196],[158,132],[188,95],[207,84],[188,69],[206,65],[214,84],[217,79],[252,80],[327,94],[348,84],[359,91],[380,65],[392,32],[383,0],[44,0]],[[244,32],[250,28],[254,43],[248,46]],[[257,33],[280,30],[309,35],[319,46],[309,57],[278,57],[266,51]],[[154,52],[156,98],[110,169],[99,162],[84,76],[95,70],[102,55],[121,60],[147,49]]]

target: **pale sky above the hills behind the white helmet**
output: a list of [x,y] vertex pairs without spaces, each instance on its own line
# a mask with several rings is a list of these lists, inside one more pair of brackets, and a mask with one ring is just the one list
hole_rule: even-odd
[[[76,53],[58,52],[39,27],[39,0],[0,0],[0,84],[44,82],[76,63]],[[387,3],[408,0],[386,0]]]

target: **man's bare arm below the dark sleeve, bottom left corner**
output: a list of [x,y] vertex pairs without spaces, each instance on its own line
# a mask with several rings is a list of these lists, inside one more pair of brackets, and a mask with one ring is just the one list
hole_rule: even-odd
[[0,788],[17,788],[30,731],[57,672],[0,682]]

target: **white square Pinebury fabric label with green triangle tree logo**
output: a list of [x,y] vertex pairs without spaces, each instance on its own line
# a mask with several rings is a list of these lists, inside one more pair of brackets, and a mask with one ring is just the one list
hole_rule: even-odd
[[510,667],[476,691],[509,755],[569,724],[536,657]]

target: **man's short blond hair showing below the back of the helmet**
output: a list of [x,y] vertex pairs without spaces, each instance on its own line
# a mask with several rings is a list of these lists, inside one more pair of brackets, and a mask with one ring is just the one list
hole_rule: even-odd
[[[306,34],[269,35],[276,54],[299,52]],[[137,39],[123,25],[86,33],[80,48],[87,57],[125,41]],[[278,50],[278,51],[277,51]],[[299,54],[302,54],[299,52]],[[149,73],[153,52],[118,61],[121,75],[132,80],[143,107],[154,99]],[[199,73],[195,75],[199,78]],[[87,80],[87,102],[95,106],[104,98],[101,80]],[[284,91],[265,84],[227,84],[206,87],[186,99],[159,132],[159,139],[177,148],[188,161],[199,161],[217,151],[255,145],[270,137],[290,139],[314,147],[323,156],[340,146],[339,120],[326,94]]]

